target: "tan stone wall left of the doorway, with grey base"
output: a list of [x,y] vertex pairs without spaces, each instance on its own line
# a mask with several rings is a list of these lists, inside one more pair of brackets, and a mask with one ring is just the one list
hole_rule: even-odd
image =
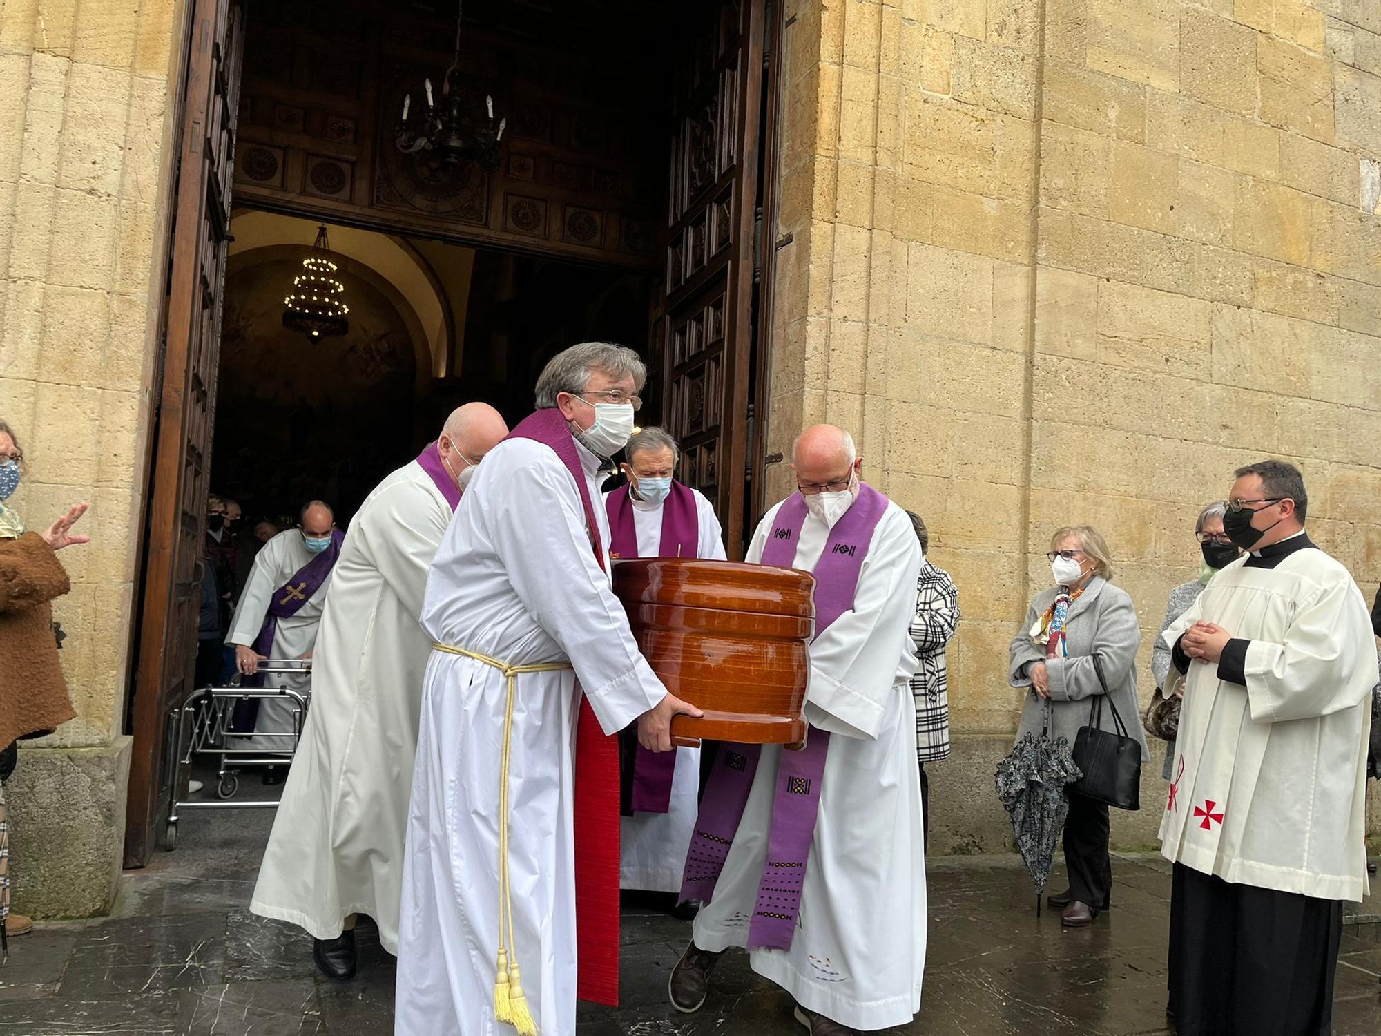
[[120,867],[177,7],[0,8],[0,417],[28,460],[12,503],[46,526],[88,500],[93,536],[59,555],[72,593],[54,606],[77,718],[21,751],[8,792],[21,912],[99,912]]

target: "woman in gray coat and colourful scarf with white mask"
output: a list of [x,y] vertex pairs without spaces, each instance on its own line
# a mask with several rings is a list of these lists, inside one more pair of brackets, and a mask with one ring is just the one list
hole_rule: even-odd
[[[1051,537],[1045,557],[1055,586],[1036,594],[1011,646],[1012,687],[1027,689],[1016,736],[1040,733],[1048,707],[1051,736],[1073,747],[1079,728],[1090,722],[1092,696],[1103,693],[1097,658],[1110,702],[1145,760],[1135,666],[1141,626],[1131,598],[1110,582],[1108,544],[1097,529],[1068,526]],[[1099,725],[1116,729],[1112,709],[1102,710]],[[1069,890],[1048,902],[1063,910],[1061,924],[1081,928],[1108,908],[1112,891],[1108,805],[1070,792],[1063,848]]]

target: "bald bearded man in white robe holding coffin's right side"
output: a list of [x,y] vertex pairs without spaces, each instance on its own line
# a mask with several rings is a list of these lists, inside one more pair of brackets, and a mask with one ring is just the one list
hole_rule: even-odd
[[[809,428],[793,457],[800,492],[764,517],[749,561],[816,576],[809,742],[804,751],[721,746],[684,887],[704,906],[670,996],[679,1011],[699,1010],[720,955],[746,946],[751,968],[795,999],[797,1021],[813,1036],[840,1036],[905,1025],[921,1003],[925,861],[909,635],[921,548],[906,511],[859,482],[847,432]],[[746,803],[725,808],[735,789]],[[802,805],[812,797],[813,811]]]

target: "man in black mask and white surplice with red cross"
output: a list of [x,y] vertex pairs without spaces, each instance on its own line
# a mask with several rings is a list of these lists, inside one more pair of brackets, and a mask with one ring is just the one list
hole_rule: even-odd
[[1342,902],[1367,891],[1367,606],[1304,530],[1298,468],[1239,468],[1224,529],[1247,551],[1163,634],[1184,692],[1160,823],[1174,862],[1170,1011],[1181,1036],[1331,1032]]

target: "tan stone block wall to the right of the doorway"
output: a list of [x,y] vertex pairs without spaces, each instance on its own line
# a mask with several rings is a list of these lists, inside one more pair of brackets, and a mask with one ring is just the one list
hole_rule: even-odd
[[[960,587],[939,851],[1007,844],[1007,644],[1090,522],[1142,623],[1199,508],[1262,456],[1381,577],[1381,7],[797,0],[786,30],[769,449],[859,434]],[[1370,361],[1370,362],[1369,362]],[[790,486],[772,468],[772,496]],[[1114,822],[1148,845],[1152,808]],[[1381,822],[1381,803],[1373,803]]]

